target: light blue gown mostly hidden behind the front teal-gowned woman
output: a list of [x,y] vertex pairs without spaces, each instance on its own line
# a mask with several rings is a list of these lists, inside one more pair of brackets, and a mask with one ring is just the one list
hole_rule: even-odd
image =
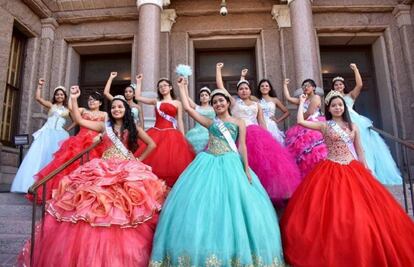
[[[207,109],[196,106],[196,111],[209,119],[214,119],[216,116],[214,109],[211,107]],[[198,122],[196,122],[194,128],[187,132],[185,137],[191,143],[197,154],[207,147],[208,130]]]

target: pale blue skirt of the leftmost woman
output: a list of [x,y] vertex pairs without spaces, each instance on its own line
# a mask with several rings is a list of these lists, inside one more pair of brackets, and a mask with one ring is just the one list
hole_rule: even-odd
[[52,160],[53,153],[69,134],[63,129],[42,128],[33,137],[34,141],[14,177],[11,192],[27,193],[35,182],[35,174]]

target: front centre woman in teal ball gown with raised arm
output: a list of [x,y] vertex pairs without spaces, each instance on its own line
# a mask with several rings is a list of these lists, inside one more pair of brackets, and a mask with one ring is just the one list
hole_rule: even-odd
[[210,137],[168,195],[150,266],[285,266],[277,216],[249,168],[246,126],[230,115],[231,96],[212,92],[211,120],[190,107],[182,78],[179,86],[184,109]]

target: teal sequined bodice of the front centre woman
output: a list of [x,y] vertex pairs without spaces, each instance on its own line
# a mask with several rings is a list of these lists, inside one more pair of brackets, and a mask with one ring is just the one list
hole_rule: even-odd
[[[230,131],[231,137],[234,141],[236,141],[237,136],[239,134],[239,127],[231,122],[224,122],[224,125]],[[214,155],[221,155],[227,152],[233,151],[230,148],[229,143],[227,142],[226,138],[220,132],[219,128],[216,124],[210,125],[209,129],[209,139],[208,139],[208,147],[207,151]]]

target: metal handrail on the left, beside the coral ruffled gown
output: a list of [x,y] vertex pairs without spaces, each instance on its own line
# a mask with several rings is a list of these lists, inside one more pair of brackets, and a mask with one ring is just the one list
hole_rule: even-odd
[[[33,195],[33,209],[32,209],[32,233],[31,233],[31,243],[30,243],[30,266],[34,265],[34,247],[35,247],[35,232],[36,232],[36,208],[37,208],[37,199],[38,194],[37,190],[40,187],[43,187],[42,192],[42,220],[45,216],[45,205],[46,205],[46,183],[51,180],[53,177],[55,177],[57,174],[59,174],[61,171],[69,167],[73,162],[80,159],[80,164],[83,164],[83,156],[86,154],[86,161],[89,161],[89,152],[94,149],[97,145],[101,143],[101,139],[94,142],[89,147],[82,150],[79,154],[77,154],[75,157],[69,159],[65,163],[63,163],[60,167],[53,170],[51,173],[46,175],[43,179],[40,181],[34,183],[28,190],[28,193]],[[43,222],[42,222],[43,223]]]

